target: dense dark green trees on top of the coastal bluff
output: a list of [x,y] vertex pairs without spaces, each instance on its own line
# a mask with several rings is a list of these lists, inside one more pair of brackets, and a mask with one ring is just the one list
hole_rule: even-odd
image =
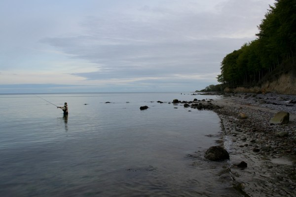
[[296,0],[275,0],[258,29],[255,40],[223,58],[218,82],[252,86],[276,69],[295,69]]

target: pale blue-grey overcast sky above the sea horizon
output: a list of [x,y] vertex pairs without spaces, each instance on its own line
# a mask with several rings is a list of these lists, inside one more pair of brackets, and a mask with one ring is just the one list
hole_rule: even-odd
[[194,92],[274,0],[0,0],[0,94]]

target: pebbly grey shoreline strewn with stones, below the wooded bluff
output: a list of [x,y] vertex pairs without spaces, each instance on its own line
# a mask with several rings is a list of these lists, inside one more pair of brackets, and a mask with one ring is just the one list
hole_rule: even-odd
[[[296,196],[296,106],[286,104],[294,98],[232,94],[211,101],[219,106],[213,110],[221,119],[222,142],[230,155],[228,170],[234,187],[244,196]],[[268,105],[269,99],[274,104]],[[271,125],[269,120],[280,110],[290,113],[289,124]],[[239,113],[248,118],[238,119]],[[288,136],[279,137],[282,131]],[[235,165],[242,161],[246,168]]]

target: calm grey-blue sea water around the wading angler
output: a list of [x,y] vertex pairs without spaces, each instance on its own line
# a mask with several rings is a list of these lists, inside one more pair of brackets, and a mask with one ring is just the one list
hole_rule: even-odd
[[218,115],[169,103],[218,98],[191,94],[0,95],[0,197],[241,196],[204,159]]

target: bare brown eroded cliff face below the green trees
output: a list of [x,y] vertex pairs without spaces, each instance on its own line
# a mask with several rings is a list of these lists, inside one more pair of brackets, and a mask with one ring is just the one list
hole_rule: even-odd
[[283,95],[296,95],[296,76],[293,73],[282,74],[274,81],[266,81],[261,86],[252,88],[225,88],[224,92],[245,93],[277,93]]

